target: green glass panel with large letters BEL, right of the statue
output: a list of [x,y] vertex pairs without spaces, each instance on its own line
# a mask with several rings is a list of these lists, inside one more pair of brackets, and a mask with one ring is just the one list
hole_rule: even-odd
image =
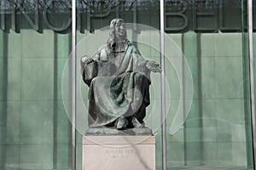
[[253,169],[246,3],[166,0],[166,35],[183,51],[166,63],[168,169]]

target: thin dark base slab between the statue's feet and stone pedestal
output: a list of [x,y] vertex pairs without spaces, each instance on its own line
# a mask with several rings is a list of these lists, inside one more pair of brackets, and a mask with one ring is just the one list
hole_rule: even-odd
[[86,130],[85,136],[152,136],[152,130],[148,127],[129,128],[118,130],[108,127],[90,127]]

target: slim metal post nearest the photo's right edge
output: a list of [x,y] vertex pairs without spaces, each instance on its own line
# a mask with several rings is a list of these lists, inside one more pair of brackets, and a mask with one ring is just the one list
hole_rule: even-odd
[[251,90],[251,119],[253,131],[253,157],[254,168],[256,165],[256,125],[254,105],[254,74],[253,74],[253,0],[247,1],[248,33],[249,33],[249,67],[250,67],[250,90]]

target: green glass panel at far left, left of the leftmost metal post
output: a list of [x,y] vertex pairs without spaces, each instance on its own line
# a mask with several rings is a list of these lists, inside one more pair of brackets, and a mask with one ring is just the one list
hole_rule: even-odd
[[0,169],[71,167],[61,97],[70,18],[68,1],[1,1]]

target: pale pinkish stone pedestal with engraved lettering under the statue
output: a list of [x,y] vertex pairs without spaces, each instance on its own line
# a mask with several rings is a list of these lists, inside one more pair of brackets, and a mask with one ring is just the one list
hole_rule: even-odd
[[83,170],[155,170],[154,136],[84,136]]

